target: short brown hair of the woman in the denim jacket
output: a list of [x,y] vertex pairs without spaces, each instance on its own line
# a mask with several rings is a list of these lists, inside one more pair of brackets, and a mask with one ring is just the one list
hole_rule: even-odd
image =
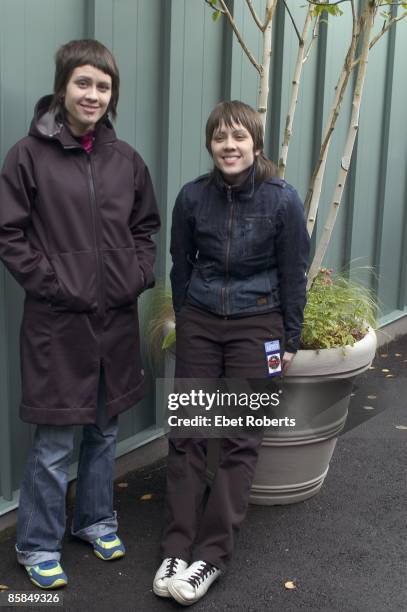
[[212,156],[211,141],[214,132],[224,123],[227,127],[232,127],[240,123],[249,132],[253,139],[254,150],[260,151],[255,157],[256,179],[265,181],[276,174],[276,167],[271,159],[268,159],[263,152],[264,130],[261,117],[251,106],[240,100],[230,102],[220,102],[215,106],[206,122],[205,136],[206,148]]

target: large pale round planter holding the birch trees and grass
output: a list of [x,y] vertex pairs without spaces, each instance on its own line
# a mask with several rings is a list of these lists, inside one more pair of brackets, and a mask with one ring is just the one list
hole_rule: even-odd
[[319,491],[345,425],[352,383],[370,366],[376,344],[370,329],[353,347],[298,352],[282,386],[296,427],[266,430],[251,503],[290,504]]

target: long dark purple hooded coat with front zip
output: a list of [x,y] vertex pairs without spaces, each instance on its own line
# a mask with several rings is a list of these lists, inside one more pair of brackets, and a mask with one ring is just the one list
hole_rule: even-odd
[[159,215],[148,170],[107,120],[87,154],[37,104],[0,177],[0,258],[26,291],[21,418],[95,422],[144,394],[137,297],[154,284]]

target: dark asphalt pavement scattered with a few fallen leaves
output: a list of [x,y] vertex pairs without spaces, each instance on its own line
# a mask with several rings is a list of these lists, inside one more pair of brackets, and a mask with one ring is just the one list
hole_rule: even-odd
[[[407,336],[379,349],[357,381],[349,415],[319,494],[289,506],[250,506],[229,571],[196,612],[407,610]],[[182,608],[151,590],[164,491],[165,461],[116,482],[124,559],[103,562],[67,535],[62,561],[69,585],[60,591],[59,609]],[[15,561],[14,537],[12,530],[0,535],[0,584],[38,593]]]

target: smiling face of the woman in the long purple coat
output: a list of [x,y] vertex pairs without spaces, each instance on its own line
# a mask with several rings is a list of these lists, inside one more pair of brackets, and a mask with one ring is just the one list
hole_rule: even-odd
[[91,65],[78,66],[65,90],[64,104],[69,127],[75,136],[94,129],[106,113],[112,97],[112,78]]

